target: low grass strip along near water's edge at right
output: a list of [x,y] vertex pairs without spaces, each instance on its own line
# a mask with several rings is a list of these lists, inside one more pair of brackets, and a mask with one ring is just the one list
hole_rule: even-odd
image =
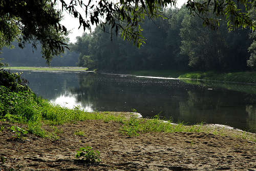
[[245,131],[228,130],[224,128],[209,127],[202,123],[187,126],[183,123],[173,124],[172,121],[164,121],[159,119],[156,115],[152,119],[137,118],[132,115],[130,119],[126,120],[122,125],[120,132],[128,137],[139,136],[143,133],[175,133],[175,132],[194,132],[194,133],[210,133],[220,136],[229,136],[238,139],[246,139],[252,142],[256,142],[255,134],[248,133]]

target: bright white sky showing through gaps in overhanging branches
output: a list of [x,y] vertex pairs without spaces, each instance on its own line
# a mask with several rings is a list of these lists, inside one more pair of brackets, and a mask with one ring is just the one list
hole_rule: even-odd
[[[177,7],[180,8],[187,0],[177,0]],[[79,28],[79,20],[70,16],[66,11],[63,11],[64,18],[61,21],[61,24],[65,26],[71,33],[69,34],[70,42],[76,42],[77,36],[82,36],[83,27]],[[95,26],[92,28],[94,29]],[[89,31],[86,30],[89,33]]]

